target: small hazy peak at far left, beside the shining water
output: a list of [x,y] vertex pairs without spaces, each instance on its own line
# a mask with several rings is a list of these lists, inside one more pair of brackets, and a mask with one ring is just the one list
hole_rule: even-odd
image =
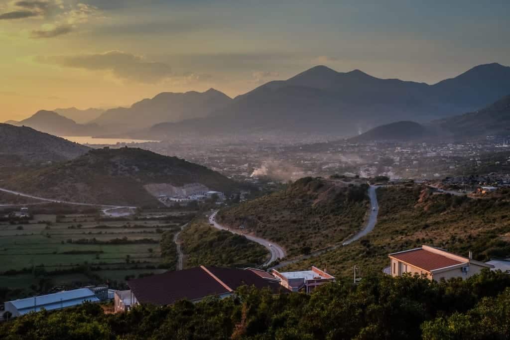
[[56,136],[92,136],[99,132],[96,124],[78,124],[53,111],[41,110],[33,116],[16,123]]

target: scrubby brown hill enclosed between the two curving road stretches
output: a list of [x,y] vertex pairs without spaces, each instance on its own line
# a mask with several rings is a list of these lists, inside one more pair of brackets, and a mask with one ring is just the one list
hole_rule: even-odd
[[369,209],[367,185],[305,177],[287,189],[225,208],[217,220],[284,246],[289,256],[342,242]]

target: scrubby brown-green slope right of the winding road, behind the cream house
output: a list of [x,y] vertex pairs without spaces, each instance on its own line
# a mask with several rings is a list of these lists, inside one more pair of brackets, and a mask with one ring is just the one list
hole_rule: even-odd
[[299,261],[286,269],[325,267],[334,275],[380,273],[388,254],[420,247],[445,248],[477,260],[510,256],[510,196],[471,199],[434,194],[422,186],[377,190],[379,214],[374,230],[358,242]]

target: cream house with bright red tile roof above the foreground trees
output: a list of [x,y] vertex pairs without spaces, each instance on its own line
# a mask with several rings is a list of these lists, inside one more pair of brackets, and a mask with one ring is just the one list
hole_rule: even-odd
[[444,249],[421,246],[420,248],[399,251],[388,255],[391,259],[390,275],[401,276],[426,275],[431,280],[448,280],[452,277],[468,278],[479,273],[484,268],[494,268],[472,259],[450,253]]

